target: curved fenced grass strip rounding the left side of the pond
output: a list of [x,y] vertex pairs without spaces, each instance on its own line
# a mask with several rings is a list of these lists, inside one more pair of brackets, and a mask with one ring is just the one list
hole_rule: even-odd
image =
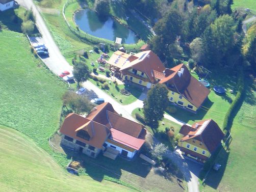
[[[66,8],[67,8],[70,4],[77,3],[77,2],[78,2],[78,1],[76,1],[76,0],[68,0],[67,3],[64,4],[63,9],[62,9],[62,15],[63,15],[63,17],[64,17],[64,20],[65,20],[65,22],[66,22],[66,24],[67,24],[69,30],[70,30],[72,33],[74,33],[76,36],[78,36],[78,37],[81,39],[81,41],[83,41],[83,42],[85,42],[85,43],[87,43],[87,44],[89,44],[89,45],[92,45],[92,46],[93,46],[93,45],[97,45],[97,44],[99,44],[99,43],[111,44],[111,43],[110,43],[111,41],[109,41],[109,42],[108,42],[108,41],[104,41],[104,40],[102,40],[102,39],[99,39],[99,38],[96,38],[96,37],[91,36],[91,35],[89,35],[89,34],[86,34],[86,33],[84,33],[84,32],[81,32],[81,31],[79,30],[79,28],[74,29],[74,28],[68,23],[68,21],[67,21],[67,19],[66,19],[66,16],[65,16],[65,10],[66,10]],[[112,43],[114,43],[114,42],[112,42]]]

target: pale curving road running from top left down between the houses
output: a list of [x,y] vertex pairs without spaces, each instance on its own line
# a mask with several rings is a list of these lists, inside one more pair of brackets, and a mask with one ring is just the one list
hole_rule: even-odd
[[[44,41],[44,44],[46,47],[48,47],[48,51],[49,51],[49,58],[44,59],[44,62],[46,63],[48,68],[57,74],[60,74],[64,70],[72,71],[72,67],[68,64],[68,62],[62,56],[62,53],[59,47],[56,45],[52,35],[50,35],[47,29],[47,26],[43,18],[41,17],[41,14],[39,13],[38,9],[33,3],[33,0],[16,0],[16,2],[27,9],[32,9],[36,17],[36,25],[38,27],[38,30],[42,34],[42,39]],[[129,105],[121,105],[113,97],[109,96],[104,91],[100,90],[97,86],[94,86],[90,81],[83,83],[83,86],[95,92],[98,95],[98,97],[105,98],[106,101],[110,102],[113,105],[113,107],[119,114],[122,114],[123,117],[129,118],[132,120],[135,120],[131,115],[133,109],[137,107],[142,107],[143,99],[145,99],[146,97],[146,91],[144,91],[143,94],[140,96],[140,98],[136,102]],[[183,122],[178,121],[171,116],[165,115],[165,118],[170,119],[171,121],[174,121],[175,123],[178,123],[180,125],[183,125]],[[156,142],[158,141],[156,140]],[[175,152],[169,151],[167,155],[170,159],[172,159],[174,162],[177,163],[177,165],[181,168],[181,170],[185,174],[185,180],[188,183],[189,192],[198,192],[199,189],[198,189],[197,176],[199,174],[201,166],[196,162],[188,161],[184,159],[180,155],[180,153],[178,153],[178,151],[175,151]]]

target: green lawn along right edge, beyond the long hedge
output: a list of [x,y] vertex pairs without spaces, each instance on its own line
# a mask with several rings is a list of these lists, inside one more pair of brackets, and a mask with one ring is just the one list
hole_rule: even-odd
[[255,191],[256,175],[256,87],[246,78],[245,96],[232,129],[230,150],[222,150],[216,160],[222,164],[218,172],[211,171],[207,186],[200,191]]

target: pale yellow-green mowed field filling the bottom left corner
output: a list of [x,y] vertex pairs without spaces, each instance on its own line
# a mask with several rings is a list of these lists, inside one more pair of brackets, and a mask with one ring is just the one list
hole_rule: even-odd
[[28,136],[0,126],[0,191],[133,191],[109,181],[65,172]]

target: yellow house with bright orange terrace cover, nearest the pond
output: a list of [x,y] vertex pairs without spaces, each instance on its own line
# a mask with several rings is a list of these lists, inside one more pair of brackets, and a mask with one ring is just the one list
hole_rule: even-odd
[[155,75],[165,70],[159,57],[151,50],[136,54],[127,54],[118,50],[112,54],[107,64],[122,80],[131,81],[148,89],[158,82]]

